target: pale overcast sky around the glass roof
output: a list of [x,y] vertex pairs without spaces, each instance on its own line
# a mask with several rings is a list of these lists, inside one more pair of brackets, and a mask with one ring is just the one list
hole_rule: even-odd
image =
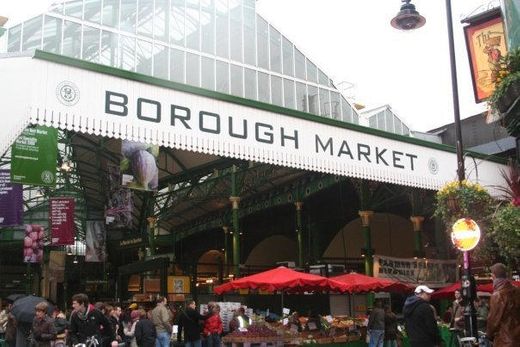
[[[44,12],[53,0],[0,0],[6,27]],[[367,107],[388,104],[412,130],[453,122],[446,10],[443,0],[413,0],[424,27],[390,26],[400,0],[257,0],[257,12],[318,65],[343,94]],[[460,20],[498,0],[453,0],[461,118],[475,104]]]

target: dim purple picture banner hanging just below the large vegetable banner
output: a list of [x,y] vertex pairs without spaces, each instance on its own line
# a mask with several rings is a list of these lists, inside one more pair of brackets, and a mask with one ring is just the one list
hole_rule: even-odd
[[132,191],[121,187],[121,172],[115,165],[108,166],[106,224],[111,228],[130,228],[132,226]]

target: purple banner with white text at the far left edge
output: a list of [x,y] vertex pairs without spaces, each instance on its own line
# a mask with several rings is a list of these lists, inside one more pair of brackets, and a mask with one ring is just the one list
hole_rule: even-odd
[[9,170],[0,170],[0,227],[21,225],[22,218],[22,185],[11,184]]

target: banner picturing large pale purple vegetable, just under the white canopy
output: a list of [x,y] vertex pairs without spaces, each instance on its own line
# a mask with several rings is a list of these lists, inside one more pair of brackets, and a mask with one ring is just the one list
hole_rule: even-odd
[[155,191],[159,186],[159,146],[122,141],[122,185],[132,189]]

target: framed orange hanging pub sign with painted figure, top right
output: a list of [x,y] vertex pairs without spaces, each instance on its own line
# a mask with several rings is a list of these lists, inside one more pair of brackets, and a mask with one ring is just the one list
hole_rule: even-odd
[[464,27],[475,102],[486,100],[495,90],[493,67],[507,53],[500,9],[468,18]]

